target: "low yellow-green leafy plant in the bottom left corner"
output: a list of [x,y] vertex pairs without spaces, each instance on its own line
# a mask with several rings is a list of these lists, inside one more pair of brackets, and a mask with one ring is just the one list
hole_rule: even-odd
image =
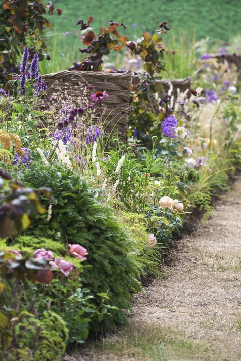
[[68,330],[61,316],[54,312],[46,311],[42,319],[37,319],[23,311],[14,326],[14,336],[15,347],[8,351],[14,359],[59,361],[65,352]]

